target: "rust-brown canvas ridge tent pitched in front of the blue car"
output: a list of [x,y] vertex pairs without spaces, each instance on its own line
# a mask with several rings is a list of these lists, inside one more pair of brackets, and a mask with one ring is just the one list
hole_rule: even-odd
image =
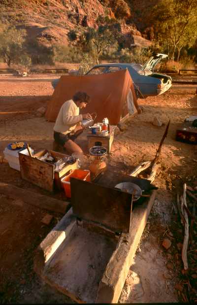
[[[131,89],[131,91],[130,91]],[[107,117],[111,125],[117,125],[129,113],[127,97],[136,99],[133,82],[127,69],[97,75],[61,76],[51,100],[48,102],[46,119],[54,122],[64,102],[72,99],[77,91],[84,91],[91,102],[82,113],[97,113],[96,122]]]

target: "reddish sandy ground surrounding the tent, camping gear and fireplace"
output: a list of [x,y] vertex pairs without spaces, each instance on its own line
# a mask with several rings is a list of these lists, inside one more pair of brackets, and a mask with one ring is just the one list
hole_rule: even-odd
[[[33,75],[26,78],[0,75],[0,155],[7,144],[16,140],[27,141],[34,150],[51,149],[53,125],[44,117],[36,117],[36,109],[46,106],[53,89],[53,75]],[[178,302],[174,285],[179,281],[181,261],[169,268],[178,250],[174,244],[165,250],[161,243],[174,221],[177,189],[184,181],[197,179],[196,145],[175,141],[176,129],[183,120],[197,114],[196,85],[173,85],[164,95],[139,100],[144,107],[141,115],[127,123],[128,130],[115,137],[108,167],[130,173],[131,165],[153,159],[171,120],[168,136],[164,141],[160,170],[154,184],[159,187],[141,243],[131,265],[120,303]],[[164,125],[155,127],[157,116]],[[82,136],[79,141],[85,140]],[[86,145],[86,142],[85,144]],[[87,159],[88,162],[88,159]],[[196,177],[196,178],[195,178]],[[20,173],[10,169],[6,162],[0,165],[0,182],[27,188],[55,198],[21,179]],[[50,226],[41,223],[47,213],[5,196],[0,198],[0,298],[5,303],[70,303],[66,296],[51,289],[33,272],[33,253],[40,241],[61,218],[53,214]],[[167,236],[171,240],[171,235]],[[176,242],[176,240],[174,240]]]

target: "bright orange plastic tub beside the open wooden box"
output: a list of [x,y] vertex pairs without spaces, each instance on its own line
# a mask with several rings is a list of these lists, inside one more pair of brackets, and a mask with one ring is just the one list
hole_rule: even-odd
[[77,178],[84,181],[90,181],[90,170],[88,169],[74,169],[70,172],[67,176],[61,179],[63,183],[66,197],[71,197],[71,190],[70,190],[70,178]]

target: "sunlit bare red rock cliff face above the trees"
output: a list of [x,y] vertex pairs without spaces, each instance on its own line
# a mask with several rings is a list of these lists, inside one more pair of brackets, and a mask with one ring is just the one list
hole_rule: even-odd
[[[29,40],[44,45],[68,44],[69,30],[96,27],[99,15],[114,17],[110,6],[99,0],[0,0],[0,21],[26,29]],[[122,22],[123,34],[141,36],[134,24]]]

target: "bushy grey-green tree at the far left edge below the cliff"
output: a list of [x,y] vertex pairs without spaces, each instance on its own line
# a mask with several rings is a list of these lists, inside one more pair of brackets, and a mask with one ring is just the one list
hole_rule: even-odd
[[31,60],[25,51],[25,37],[25,30],[0,25],[0,57],[8,67],[11,64],[30,64]]

